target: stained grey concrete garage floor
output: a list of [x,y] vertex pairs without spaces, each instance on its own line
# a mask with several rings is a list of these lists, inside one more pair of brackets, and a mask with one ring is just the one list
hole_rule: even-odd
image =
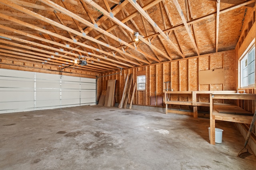
[[237,157],[244,138],[217,121],[221,144],[209,143],[209,120],[139,109],[82,106],[0,115],[4,170],[255,170]]

